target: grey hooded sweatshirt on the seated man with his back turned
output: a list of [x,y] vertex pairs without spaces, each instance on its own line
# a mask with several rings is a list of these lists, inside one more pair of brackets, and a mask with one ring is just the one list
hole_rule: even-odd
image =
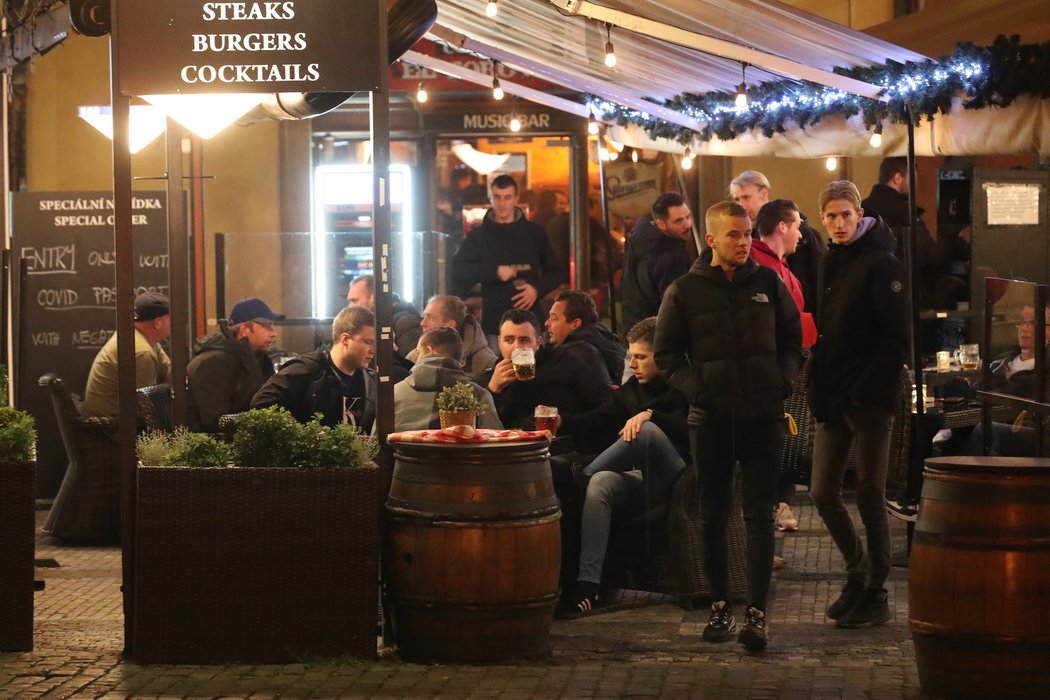
[[438,394],[457,382],[470,385],[474,395],[485,406],[478,416],[479,428],[503,428],[488,389],[470,381],[463,367],[450,357],[429,355],[412,367],[412,374],[394,385],[394,429],[427,430],[441,427],[438,415]]

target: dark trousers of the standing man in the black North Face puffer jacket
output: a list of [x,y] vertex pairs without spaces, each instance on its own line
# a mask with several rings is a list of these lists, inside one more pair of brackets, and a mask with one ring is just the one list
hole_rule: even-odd
[[748,604],[765,610],[773,576],[773,508],[780,480],[783,419],[709,420],[690,429],[700,479],[704,565],[715,600],[729,600],[727,528],[733,505],[733,470],[743,479],[743,524],[748,532]]

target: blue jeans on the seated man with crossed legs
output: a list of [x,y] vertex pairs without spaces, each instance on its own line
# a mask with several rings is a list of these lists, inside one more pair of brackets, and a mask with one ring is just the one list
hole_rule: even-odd
[[666,503],[685,468],[685,460],[652,422],[643,424],[631,442],[618,439],[584,468],[591,479],[581,523],[578,580],[601,582],[613,511]]

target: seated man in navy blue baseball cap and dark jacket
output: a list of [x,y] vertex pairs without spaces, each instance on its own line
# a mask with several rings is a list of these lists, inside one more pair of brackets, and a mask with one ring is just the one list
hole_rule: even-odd
[[274,321],[284,318],[258,297],[242,299],[218,330],[202,339],[186,367],[190,430],[217,432],[220,416],[248,410],[252,397],[273,376],[267,351],[277,337]]

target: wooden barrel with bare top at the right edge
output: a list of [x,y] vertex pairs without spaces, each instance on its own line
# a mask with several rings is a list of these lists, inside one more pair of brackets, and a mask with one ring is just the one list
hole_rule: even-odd
[[924,693],[1050,697],[1050,460],[926,460],[908,625]]

